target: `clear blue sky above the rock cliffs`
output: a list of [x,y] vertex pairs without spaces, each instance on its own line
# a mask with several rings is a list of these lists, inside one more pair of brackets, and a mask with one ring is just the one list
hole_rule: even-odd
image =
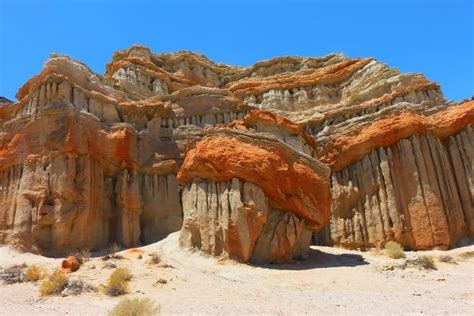
[[474,94],[474,1],[0,0],[0,95],[14,99],[49,53],[104,73],[115,50],[193,50],[250,65],[341,52],[421,72],[448,99]]

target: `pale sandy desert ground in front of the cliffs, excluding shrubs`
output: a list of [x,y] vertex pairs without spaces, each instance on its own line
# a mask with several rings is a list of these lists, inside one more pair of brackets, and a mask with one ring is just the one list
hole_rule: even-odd
[[[255,267],[216,260],[177,246],[177,233],[142,247],[145,253],[122,251],[123,259],[92,258],[70,274],[85,283],[105,284],[114,263],[130,269],[128,297],[148,297],[163,314],[298,315],[298,314],[456,314],[474,311],[474,246],[450,251],[407,252],[408,258],[447,254],[457,264],[436,262],[432,271],[386,270],[400,263],[375,252],[312,247],[308,260],[295,264]],[[157,252],[172,267],[150,265]],[[61,259],[18,253],[0,247],[0,267],[40,264],[52,270]],[[0,268],[1,270],[1,268]],[[157,283],[159,279],[166,284]],[[106,315],[120,298],[100,292],[42,298],[34,283],[0,285],[0,315]]]

